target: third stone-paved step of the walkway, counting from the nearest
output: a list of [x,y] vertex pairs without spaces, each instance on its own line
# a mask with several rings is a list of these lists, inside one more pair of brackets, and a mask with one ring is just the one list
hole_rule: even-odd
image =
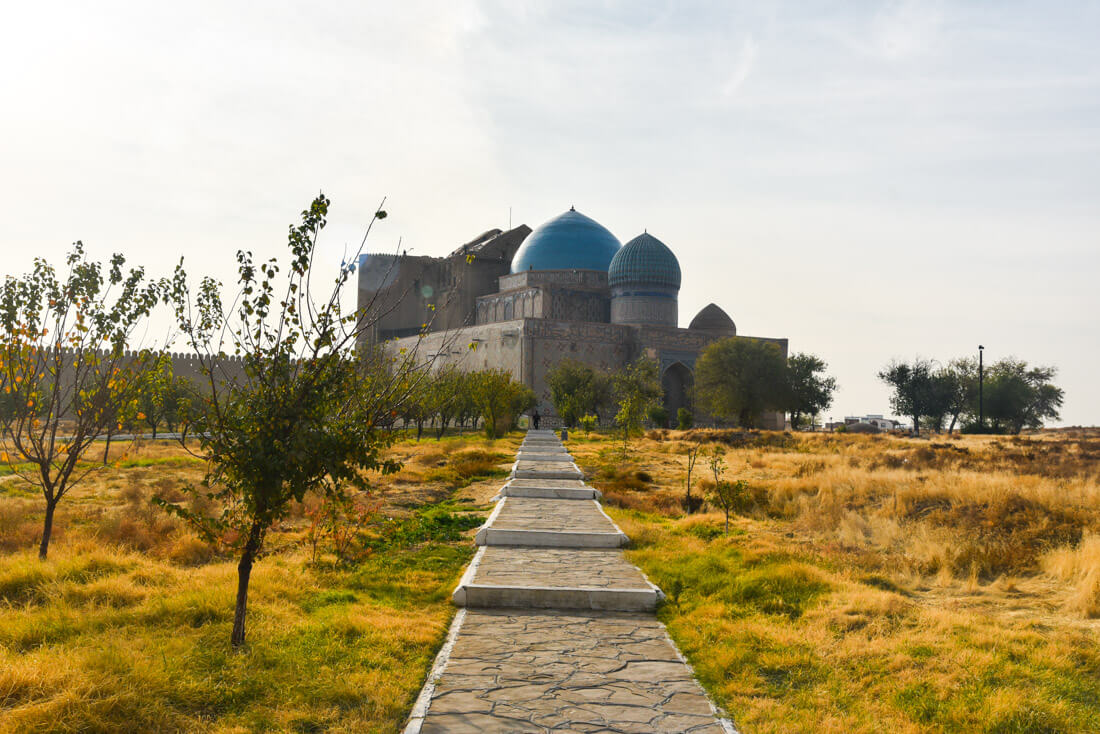
[[479,546],[618,548],[629,539],[595,500],[505,496],[477,530]]

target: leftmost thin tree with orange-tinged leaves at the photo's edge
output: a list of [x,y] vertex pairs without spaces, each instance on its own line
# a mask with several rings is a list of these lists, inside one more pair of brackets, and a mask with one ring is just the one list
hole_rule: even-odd
[[[81,459],[136,399],[147,352],[128,353],[134,330],[162,298],[125,259],[91,262],[76,242],[58,275],[35,259],[30,273],[0,289],[0,387],[7,396],[0,460],[37,485],[46,512],[38,546],[46,558],[54,513],[92,471]],[[30,465],[30,468],[28,468]]]

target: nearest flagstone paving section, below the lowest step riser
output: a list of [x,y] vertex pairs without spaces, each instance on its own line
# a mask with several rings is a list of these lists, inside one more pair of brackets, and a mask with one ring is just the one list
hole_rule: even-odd
[[469,611],[421,734],[723,734],[649,614]]

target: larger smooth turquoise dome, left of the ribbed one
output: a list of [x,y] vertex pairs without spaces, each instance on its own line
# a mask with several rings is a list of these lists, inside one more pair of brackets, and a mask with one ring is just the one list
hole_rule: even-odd
[[526,270],[598,270],[607,272],[622,248],[603,224],[570,209],[535,228],[512,259],[512,272]]

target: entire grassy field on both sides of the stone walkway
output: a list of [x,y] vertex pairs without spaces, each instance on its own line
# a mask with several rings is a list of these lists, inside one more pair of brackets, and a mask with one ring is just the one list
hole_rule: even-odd
[[[1100,731],[1100,432],[914,440],[653,431],[572,451],[745,732]],[[729,535],[683,451],[747,482]],[[157,511],[201,465],[130,450],[58,511],[0,476],[0,731],[399,731],[517,437],[402,441],[338,557],[309,500],[256,567]],[[693,475],[713,486],[706,460]]]

